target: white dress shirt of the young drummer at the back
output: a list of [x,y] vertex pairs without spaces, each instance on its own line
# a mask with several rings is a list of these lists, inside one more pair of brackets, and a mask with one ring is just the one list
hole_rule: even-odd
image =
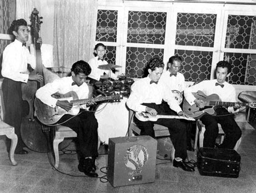
[[[91,66],[91,74],[88,75],[88,77],[90,77],[91,79],[94,79],[94,80],[99,80],[101,79],[101,75],[104,75],[104,72],[105,74],[109,74],[109,72],[111,70],[105,70],[105,69],[99,69],[99,65],[107,65],[107,61],[105,60],[98,60],[98,56],[97,57],[94,57],[94,58],[91,58],[89,61],[88,61],[88,64]],[[116,75],[115,73],[113,72],[110,72],[110,77],[112,79],[116,79]]]

